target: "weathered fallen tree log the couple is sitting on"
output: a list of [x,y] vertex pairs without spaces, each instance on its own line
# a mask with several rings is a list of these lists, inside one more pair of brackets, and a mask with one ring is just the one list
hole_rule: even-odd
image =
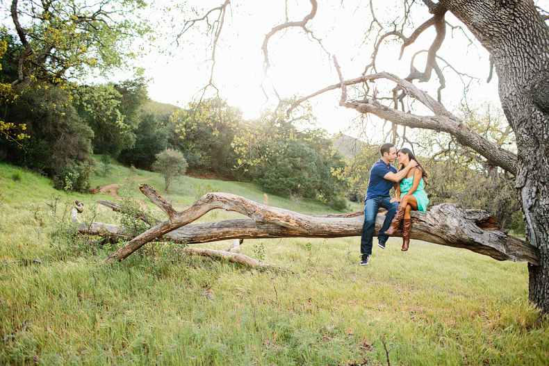
[[[106,262],[123,260],[142,245],[154,240],[176,240],[191,244],[228,239],[341,238],[361,235],[363,224],[361,212],[309,216],[261,205],[235,194],[218,192],[205,194],[187,210],[177,212],[150,185],[140,184],[139,187],[143,194],[161,208],[170,219],[131,238],[125,247],[110,253],[105,259]],[[249,218],[190,224],[216,208],[235,211]],[[443,203],[434,206],[427,213],[413,211],[411,215],[412,239],[464,248],[497,260],[538,265],[536,248],[524,240],[500,231],[497,220],[484,210],[463,210],[452,203]],[[150,218],[145,219],[150,220]],[[384,219],[384,213],[377,215],[375,235]],[[122,228],[115,225],[98,223],[81,225],[81,232],[129,238]],[[399,231],[395,236],[402,236],[402,233]]]

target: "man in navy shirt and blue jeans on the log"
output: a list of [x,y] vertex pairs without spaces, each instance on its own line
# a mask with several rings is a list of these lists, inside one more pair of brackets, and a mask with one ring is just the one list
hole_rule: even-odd
[[364,201],[364,224],[362,226],[362,238],[360,241],[360,265],[368,265],[370,262],[375,217],[380,207],[388,210],[383,226],[377,234],[377,245],[381,249],[385,249],[385,242],[388,239],[385,231],[391,225],[391,220],[395,216],[395,211],[398,207],[398,202],[391,203],[391,194],[389,192],[391,188],[396,187],[395,183],[398,183],[402,178],[407,176],[411,168],[418,165],[416,160],[410,160],[407,167],[397,172],[397,169],[391,165],[397,158],[397,149],[395,145],[389,142],[385,142],[379,147],[379,153],[382,158],[370,170],[370,182],[368,183],[368,191],[366,192],[366,199]]

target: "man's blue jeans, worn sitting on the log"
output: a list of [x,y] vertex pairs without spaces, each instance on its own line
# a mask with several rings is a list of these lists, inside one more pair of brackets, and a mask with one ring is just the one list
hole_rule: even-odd
[[387,231],[389,225],[391,225],[391,221],[393,220],[398,207],[398,202],[391,203],[391,197],[377,196],[367,199],[364,203],[364,224],[362,226],[362,237],[360,240],[360,253],[363,256],[370,256],[372,254],[375,217],[377,215],[377,210],[379,210],[380,207],[388,210],[387,215],[385,216],[385,222],[377,234],[377,240],[384,243],[388,239],[388,235],[385,234],[385,231]]

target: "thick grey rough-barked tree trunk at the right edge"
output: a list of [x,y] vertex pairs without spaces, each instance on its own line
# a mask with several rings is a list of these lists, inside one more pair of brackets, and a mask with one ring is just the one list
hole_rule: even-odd
[[490,52],[503,110],[516,135],[516,189],[526,240],[530,301],[549,313],[549,28],[532,0],[441,0]]

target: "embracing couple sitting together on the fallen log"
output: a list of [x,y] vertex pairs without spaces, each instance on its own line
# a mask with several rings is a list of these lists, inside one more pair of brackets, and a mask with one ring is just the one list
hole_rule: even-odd
[[[379,147],[382,158],[370,170],[370,182],[364,201],[364,224],[360,243],[361,265],[368,265],[372,255],[372,242],[375,230],[375,217],[380,207],[387,209],[385,221],[377,234],[377,245],[385,249],[390,235],[398,231],[402,222],[402,251],[410,244],[411,210],[425,213],[429,199],[423,190],[423,178],[427,172],[418,162],[410,149],[399,151],[395,145],[385,142]],[[396,159],[400,167],[391,165]],[[396,197],[391,198],[391,188],[395,188]],[[401,194],[404,194],[401,197]]]

